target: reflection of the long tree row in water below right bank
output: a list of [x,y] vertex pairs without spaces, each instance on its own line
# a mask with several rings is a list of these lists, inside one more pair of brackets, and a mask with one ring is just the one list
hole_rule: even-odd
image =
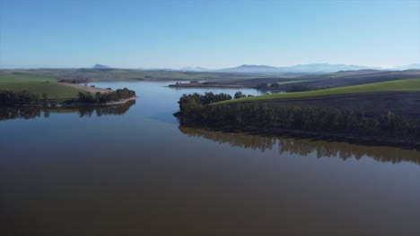
[[279,155],[309,156],[315,154],[321,157],[339,157],[342,160],[371,157],[376,161],[397,164],[411,162],[420,164],[420,152],[403,150],[396,147],[366,147],[346,142],[329,142],[310,139],[292,139],[283,137],[259,136],[244,133],[207,131],[185,126],[179,126],[179,131],[189,137],[202,137],[218,143],[228,143],[232,147],[258,149],[262,152],[278,146]]

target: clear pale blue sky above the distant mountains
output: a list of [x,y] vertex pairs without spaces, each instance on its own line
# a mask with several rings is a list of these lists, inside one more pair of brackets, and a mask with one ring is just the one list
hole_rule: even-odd
[[420,63],[420,0],[2,0],[0,68]]

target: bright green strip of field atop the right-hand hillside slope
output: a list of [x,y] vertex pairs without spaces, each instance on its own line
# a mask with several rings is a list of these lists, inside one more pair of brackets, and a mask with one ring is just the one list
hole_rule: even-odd
[[359,93],[380,93],[380,92],[420,92],[420,79],[409,80],[393,80],[387,82],[379,82],[372,84],[364,84],[357,86],[348,86],[336,89],[321,89],[307,92],[294,92],[294,93],[277,93],[256,97],[244,97],[234,99],[226,102],[245,102],[245,101],[262,101],[272,99],[286,99],[286,98],[301,98],[301,97],[319,97],[319,96],[335,96],[335,95],[350,95]]

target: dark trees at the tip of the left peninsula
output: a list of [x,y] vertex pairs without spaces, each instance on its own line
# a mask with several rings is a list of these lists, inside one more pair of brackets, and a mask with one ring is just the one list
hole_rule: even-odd
[[79,94],[77,95],[78,102],[83,103],[108,103],[111,101],[119,101],[121,99],[127,99],[135,96],[136,91],[129,90],[127,88],[117,89],[110,93],[96,92],[94,96],[90,92],[79,92]]

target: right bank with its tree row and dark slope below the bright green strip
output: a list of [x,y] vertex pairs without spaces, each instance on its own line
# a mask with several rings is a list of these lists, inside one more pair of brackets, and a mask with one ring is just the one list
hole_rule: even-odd
[[[420,106],[420,94],[416,92],[293,99],[231,98],[184,95],[179,99],[179,112],[174,115],[181,125],[216,131],[286,134],[420,149],[420,119],[416,109]],[[363,103],[366,100],[369,102]]]

